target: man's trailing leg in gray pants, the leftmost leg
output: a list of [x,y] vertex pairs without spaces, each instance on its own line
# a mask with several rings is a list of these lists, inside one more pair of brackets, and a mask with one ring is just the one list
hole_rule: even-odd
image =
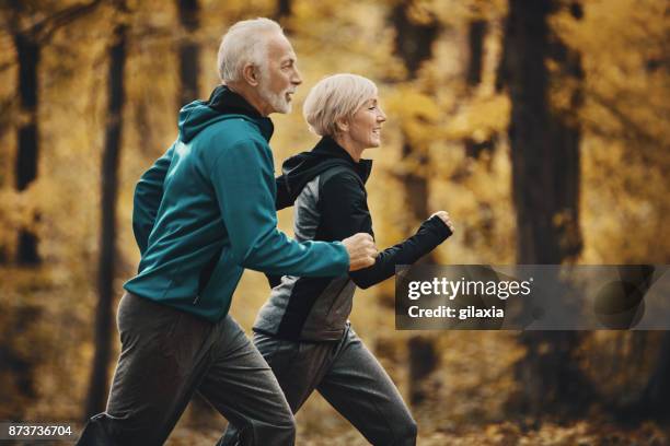
[[122,353],[107,410],[79,445],[161,445],[207,368],[215,325],[126,294],[118,307]]

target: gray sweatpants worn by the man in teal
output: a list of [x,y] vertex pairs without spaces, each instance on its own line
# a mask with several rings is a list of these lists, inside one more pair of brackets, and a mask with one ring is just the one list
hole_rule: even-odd
[[240,326],[217,324],[126,294],[122,353],[107,410],[79,445],[161,445],[195,391],[241,429],[242,445],[292,445],[296,424],[279,384]]

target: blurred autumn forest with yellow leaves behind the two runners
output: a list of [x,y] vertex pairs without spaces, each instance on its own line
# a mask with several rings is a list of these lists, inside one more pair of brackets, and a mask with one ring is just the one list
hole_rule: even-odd
[[[279,20],[299,56],[294,111],[273,116],[277,165],[316,141],[300,106],[319,79],[379,84],[389,121],[366,155],[380,247],[446,209],[457,233],[432,262],[669,263],[669,14],[660,0],[0,1],[0,419],[104,406],[139,260],[135,181],[176,137],[176,110],[218,83],[235,21]],[[265,283],[246,272],[233,300],[246,328]],[[358,292],[351,320],[421,444],[663,441],[620,420],[668,414],[668,334],[400,332],[393,281]],[[303,443],[362,442],[319,396],[298,420]],[[172,442],[223,424],[186,416]]]

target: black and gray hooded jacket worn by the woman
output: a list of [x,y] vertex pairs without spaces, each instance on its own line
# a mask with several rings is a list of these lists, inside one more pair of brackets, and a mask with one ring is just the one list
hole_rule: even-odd
[[[365,187],[371,167],[370,160],[356,163],[328,137],[311,152],[288,159],[277,178],[277,209],[294,206],[296,239],[333,242],[359,232],[374,236]],[[338,340],[357,285],[367,289],[392,277],[396,265],[414,263],[450,235],[434,216],[415,235],[381,251],[370,268],[335,278],[270,278],[274,289],[253,329],[294,341]]]

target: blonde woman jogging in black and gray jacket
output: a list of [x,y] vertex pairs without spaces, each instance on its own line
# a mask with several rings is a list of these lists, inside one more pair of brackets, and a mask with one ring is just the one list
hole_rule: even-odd
[[[372,162],[366,149],[380,145],[382,111],[377,86],[355,74],[323,79],[303,109],[322,139],[311,152],[284,164],[277,207],[294,206],[296,238],[342,240],[372,234],[366,180]],[[451,235],[449,215],[437,212],[415,235],[381,251],[367,269],[342,277],[285,275],[254,324],[254,343],[273,368],[293,413],[314,389],[376,445],[414,445],[416,423],[395,385],[351,328],[356,286],[392,277]],[[231,426],[222,444],[233,442]]]

